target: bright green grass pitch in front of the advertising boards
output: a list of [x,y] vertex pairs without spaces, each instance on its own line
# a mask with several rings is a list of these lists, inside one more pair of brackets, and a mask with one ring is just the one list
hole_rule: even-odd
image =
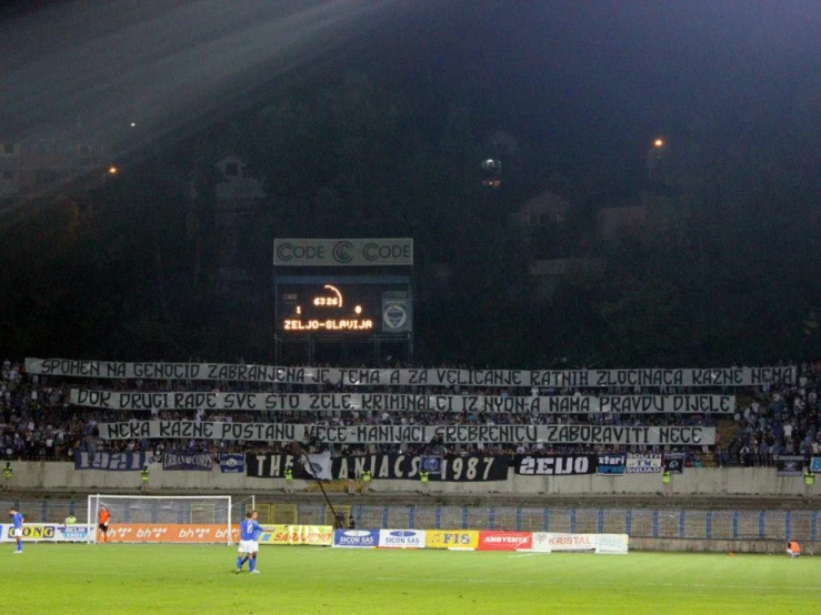
[[821,559],[787,555],[0,545],[9,613],[821,613]]

